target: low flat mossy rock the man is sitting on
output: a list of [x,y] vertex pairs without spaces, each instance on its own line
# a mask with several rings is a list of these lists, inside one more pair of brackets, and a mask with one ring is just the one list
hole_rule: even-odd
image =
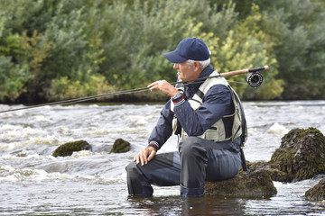
[[256,168],[248,163],[247,172],[239,172],[233,178],[206,182],[204,194],[224,197],[261,198],[276,194],[271,175],[267,170]]

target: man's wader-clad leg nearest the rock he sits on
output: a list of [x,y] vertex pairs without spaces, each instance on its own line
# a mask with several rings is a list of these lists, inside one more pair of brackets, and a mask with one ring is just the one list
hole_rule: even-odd
[[239,151],[230,143],[218,144],[189,137],[180,143],[181,196],[203,196],[206,180],[233,177],[241,166]]

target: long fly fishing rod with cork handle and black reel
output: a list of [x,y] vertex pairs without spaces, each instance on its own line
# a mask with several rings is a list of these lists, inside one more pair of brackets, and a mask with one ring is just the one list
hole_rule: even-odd
[[[191,80],[187,80],[187,81],[173,82],[173,83],[171,83],[171,85],[185,84],[185,83],[189,83],[189,82],[193,82],[193,81],[201,81],[201,80],[206,80],[208,78],[213,78],[213,77],[228,77],[228,76],[236,76],[236,75],[240,75],[240,74],[247,74],[246,82],[248,83],[248,85],[251,85],[252,87],[258,87],[263,82],[263,76],[260,73],[258,73],[258,71],[268,70],[268,69],[269,69],[269,67],[265,66],[265,67],[255,67],[255,68],[250,68],[250,69],[234,70],[234,71],[229,71],[229,72],[218,74],[217,76],[206,76],[206,77],[191,79]],[[64,101],[60,101],[60,102],[42,103],[42,104],[38,104],[38,105],[31,105],[31,106],[26,106],[26,107],[11,109],[11,110],[0,111],[0,113],[27,110],[27,109],[38,108],[38,107],[42,107],[42,106],[80,103],[80,102],[85,102],[85,101],[98,99],[98,98],[101,98],[101,97],[144,92],[144,91],[147,91],[149,89],[150,89],[150,87],[141,87],[141,88],[135,88],[135,89],[124,90],[124,91],[113,92],[113,93],[107,93],[107,94],[98,94],[98,95],[93,95],[93,96],[79,97],[79,98],[76,98],[76,99],[64,100]]]

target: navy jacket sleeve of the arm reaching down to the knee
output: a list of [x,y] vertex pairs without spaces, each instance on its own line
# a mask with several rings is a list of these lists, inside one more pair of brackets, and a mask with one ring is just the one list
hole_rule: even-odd
[[161,116],[148,139],[149,146],[162,148],[163,144],[172,136],[172,118],[174,112],[171,111],[171,100],[169,100],[163,107]]

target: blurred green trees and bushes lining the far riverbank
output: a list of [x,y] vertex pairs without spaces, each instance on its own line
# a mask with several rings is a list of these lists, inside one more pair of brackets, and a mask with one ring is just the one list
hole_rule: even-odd
[[[219,72],[269,65],[243,100],[325,99],[323,0],[0,0],[0,103],[44,103],[176,80],[163,57],[205,40]],[[107,100],[161,101],[160,94]]]

